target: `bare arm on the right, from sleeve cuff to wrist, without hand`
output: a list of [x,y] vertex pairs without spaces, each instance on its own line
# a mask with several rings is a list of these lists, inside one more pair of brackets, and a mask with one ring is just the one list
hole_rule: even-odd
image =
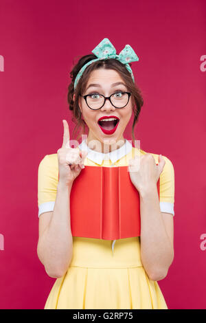
[[141,213],[141,261],[151,280],[168,274],[174,258],[173,216],[161,212],[157,186],[139,192]]

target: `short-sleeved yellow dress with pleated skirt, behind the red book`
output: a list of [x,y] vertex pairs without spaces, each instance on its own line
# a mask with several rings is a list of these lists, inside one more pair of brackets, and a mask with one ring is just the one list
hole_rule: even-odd
[[[126,166],[128,160],[146,152],[130,147],[117,159],[98,154],[85,166]],[[129,151],[129,152],[128,152]],[[112,152],[113,153],[113,152]],[[152,154],[158,163],[158,155]],[[161,212],[174,215],[174,168],[167,157],[160,176]],[[116,160],[117,159],[117,160]],[[39,216],[54,209],[58,183],[57,154],[45,155],[38,167]],[[43,216],[43,215],[41,215]],[[114,245],[115,243],[115,245]],[[157,281],[148,278],[141,263],[140,238],[108,241],[73,236],[73,257],[65,276],[57,278],[45,309],[168,309]]]

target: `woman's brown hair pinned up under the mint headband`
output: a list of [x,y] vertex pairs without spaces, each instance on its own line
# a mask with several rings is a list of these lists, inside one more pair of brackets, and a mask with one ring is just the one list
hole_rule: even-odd
[[[144,101],[141,96],[141,91],[139,90],[137,85],[135,85],[135,83],[133,82],[130,72],[128,71],[128,69],[126,69],[126,66],[123,63],[119,62],[119,60],[116,60],[115,58],[109,58],[106,60],[98,60],[94,63],[91,63],[91,65],[89,65],[84,70],[84,73],[82,74],[80,80],[78,81],[76,89],[74,90],[73,85],[74,85],[76,76],[77,76],[78,72],[80,71],[80,69],[82,68],[82,66],[85,65],[86,63],[88,63],[90,60],[93,60],[96,58],[97,58],[97,56],[95,56],[94,54],[82,56],[78,60],[78,63],[73,67],[72,71],[70,72],[71,83],[68,87],[67,100],[69,103],[69,109],[73,113],[71,120],[76,123],[76,127],[73,130],[73,134],[76,134],[76,132],[79,129],[82,129],[82,127],[83,127],[83,131],[82,132],[80,131],[80,133],[78,135],[78,138],[77,138],[77,140],[78,140],[80,138],[80,135],[82,135],[82,133],[85,133],[85,126],[87,126],[87,124],[81,118],[82,112],[80,111],[80,107],[78,105],[78,98],[79,98],[80,94],[82,94],[84,92],[91,72],[94,71],[95,69],[100,69],[100,68],[114,69],[115,71],[117,71],[117,73],[119,73],[121,78],[126,83],[126,87],[128,88],[128,91],[130,91],[130,93],[132,93],[131,98],[133,100],[133,113],[134,113],[132,137],[133,137],[133,140],[135,141],[134,128],[135,128],[135,124],[138,121],[139,113],[141,111],[142,105],[144,104]],[[130,64],[130,66],[131,66],[131,64]],[[74,93],[75,93],[75,100],[73,101],[73,94]]]

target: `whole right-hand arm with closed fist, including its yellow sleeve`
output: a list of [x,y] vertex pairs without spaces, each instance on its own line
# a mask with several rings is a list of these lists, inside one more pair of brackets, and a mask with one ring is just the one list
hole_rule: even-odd
[[[159,155],[159,164],[156,165],[154,157],[148,153],[141,155],[140,158],[130,159],[130,179],[138,190],[140,199],[141,261],[151,280],[161,280],[167,275],[174,258],[172,162],[167,157]],[[160,179],[159,195],[158,179]],[[159,201],[169,203],[168,207],[164,209]]]

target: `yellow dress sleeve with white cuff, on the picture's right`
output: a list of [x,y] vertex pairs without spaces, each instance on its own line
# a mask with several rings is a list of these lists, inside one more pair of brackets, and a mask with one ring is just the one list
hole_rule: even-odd
[[171,213],[174,216],[174,166],[168,157],[160,175],[159,205],[161,212]]

